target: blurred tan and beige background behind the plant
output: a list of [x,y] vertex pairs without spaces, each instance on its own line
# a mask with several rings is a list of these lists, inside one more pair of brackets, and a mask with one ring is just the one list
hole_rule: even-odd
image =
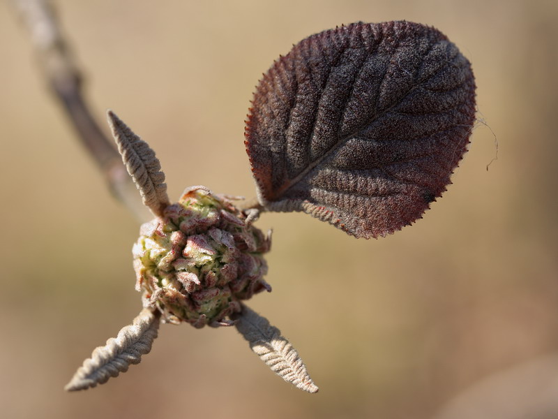
[[[0,410],[4,418],[557,418],[558,2],[55,2],[104,121],[149,141],[169,196],[252,197],[243,147],[255,84],[323,29],[411,20],[472,61],[478,124],[442,199],[414,226],[355,240],[265,214],[273,293],[250,302],[320,386],[274,376],[236,330],[163,325],[142,364],[63,385],[140,310],[138,223],[45,89],[0,3]],[[497,155],[497,160],[494,161]],[[487,170],[487,166],[490,164]]]

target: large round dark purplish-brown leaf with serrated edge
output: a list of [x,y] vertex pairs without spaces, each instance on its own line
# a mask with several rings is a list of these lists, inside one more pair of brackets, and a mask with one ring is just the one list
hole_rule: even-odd
[[437,29],[354,23],[271,66],[246,122],[259,203],[356,237],[409,225],[442,195],[475,121],[469,61]]

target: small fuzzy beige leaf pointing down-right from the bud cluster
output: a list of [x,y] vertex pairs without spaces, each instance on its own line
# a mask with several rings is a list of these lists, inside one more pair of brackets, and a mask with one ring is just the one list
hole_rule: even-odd
[[306,371],[299,353],[266,318],[242,304],[242,313],[236,317],[236,329],[248,341],[252,351],[287,383],[306,392],[318,391]]

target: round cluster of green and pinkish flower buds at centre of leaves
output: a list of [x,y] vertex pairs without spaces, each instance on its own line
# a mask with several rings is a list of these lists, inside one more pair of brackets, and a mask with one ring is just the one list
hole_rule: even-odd
[[136,289],[169,323],[230,325],[239,300],[271,291],[263,279],[270,245],[271,237],[247,224],[231,200],[192,186],[140,228],[133,247]]

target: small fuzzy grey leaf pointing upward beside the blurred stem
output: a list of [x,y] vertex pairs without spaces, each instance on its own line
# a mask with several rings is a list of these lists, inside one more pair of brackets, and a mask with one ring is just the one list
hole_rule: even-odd
[[153,212],[153,215],[162,216],[163,210],[170,205],[170,201],[167,196],[165,173],[161,171],[159,159],[153,149],[135,135],[111,110],[107,112],[107,119],[122,161],[137,189],[140,190],[144,205]]

